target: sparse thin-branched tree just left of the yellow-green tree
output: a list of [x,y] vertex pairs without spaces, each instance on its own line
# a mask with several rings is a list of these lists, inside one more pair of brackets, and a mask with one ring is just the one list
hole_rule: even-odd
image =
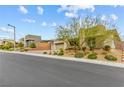
[[72,47],[74,49],[77,49],[76,47],[79,46],[77,42],[78,39],[78,33],[80,29],[80,23],[78,18],[73,18],[69,24],[66,26],[58,26],[57,27],[57,38],[59,40],[64,40],[68,47]]

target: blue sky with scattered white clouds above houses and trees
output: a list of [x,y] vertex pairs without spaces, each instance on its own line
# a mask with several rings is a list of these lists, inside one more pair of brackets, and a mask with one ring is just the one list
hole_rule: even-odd
[[27,5],[0,6],[0,38],[13,38],[13,30],[7,24],[16,26],[17,40],[27,34],[40,35],[42,39],[55,39],[57,25],[64,25],[72,17],[86,15],[100,16],[102,20],[113,20],[118,32],[124,35],[124,6],[59,6]]

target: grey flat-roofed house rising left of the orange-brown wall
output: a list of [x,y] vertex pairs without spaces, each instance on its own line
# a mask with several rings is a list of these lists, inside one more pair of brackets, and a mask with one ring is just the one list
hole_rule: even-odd
[[37,36],[37,35],[26,35],[24,37],[24,43],[26,47],[29,47],[30,44],[33,43],[38,43],[41,41],[41,36]]

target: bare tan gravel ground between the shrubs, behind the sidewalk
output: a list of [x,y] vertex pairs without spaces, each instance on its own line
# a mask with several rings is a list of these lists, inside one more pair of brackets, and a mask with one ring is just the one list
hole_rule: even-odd
[[[48,54],[50,55],[50,51],[44,50],[44,51],[27,51],[29,53],[36,53],[36,54]],[[82,52],[82,51],[77,51],[77,52]],[[112,61],[112,62],[121,62],[121,56],[122,56],[122,50],[119,49],[111,49],[109,53],[106,53],[103,49],[95,49],[94,52],[96,53],[97,58],[93,60],[102,60],[102,61],[107,61],[104,57],[106,54],[113,55],[114,57],[117,58],[117,61]],[[90,51],[86,51],[86,54],[81,57],[82,59],[88,59],[88,55],[90,54]],[[57,55],[53,54],[52,55]],[[75,57],[75,51],[74,50],[65,50],[64,55],[58,55],[58,56],[64,56],[64,57]]]

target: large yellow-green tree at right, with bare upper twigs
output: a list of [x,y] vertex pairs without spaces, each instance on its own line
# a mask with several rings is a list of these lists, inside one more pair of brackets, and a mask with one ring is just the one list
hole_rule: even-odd
[[[108,42],[120,40],[113,25],[110,21],[101,20],[99,16],[84,18],[82,28],[79,31],[80,47],[88,46],[90,50],[93,50],[95,47],[101,48],[107,39],[109,39]],[[110,28],[113,30],[108,30]]]

